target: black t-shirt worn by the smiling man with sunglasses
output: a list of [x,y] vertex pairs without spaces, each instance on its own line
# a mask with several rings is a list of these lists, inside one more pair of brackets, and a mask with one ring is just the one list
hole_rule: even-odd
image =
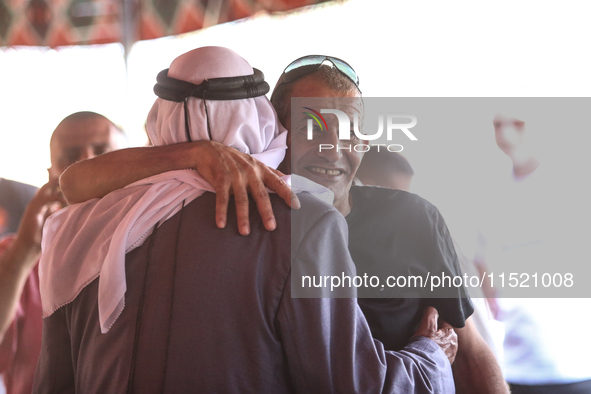
[[[376,275],[381,283],[389,275],[462,275],[451,236],[434,205],[401,190],[353,186],[351,193],[353,208],[346,219],[357,275]],[[406,288],[405,298],[396,291],[387,286],[359,289],[359,306],[372,334],[389,350],[408,343],[427,306],[454,327],[464,327],[474,312],[463,287],[454,288],[454,298],[425,298],[432,297],[429,286]]]

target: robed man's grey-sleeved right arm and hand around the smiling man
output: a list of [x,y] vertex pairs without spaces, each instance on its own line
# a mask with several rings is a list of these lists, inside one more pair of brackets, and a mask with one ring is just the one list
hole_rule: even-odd
[[[291,215],[290,276],[296,276],[285,281],[276,316],[294,391],[454,392],[450,362],[457,351],[457,336],[449,325],[438,326],[434,308],[426,310],[410,343],[400,352],[390,352],[371,337],[356,298],[294,295],[293,291],[302,283],[294,266],[316,263],[332,267],[335,273],[355,275],[347,249],[345,219],[332,210],[318,221],[310,220],[311,212],[302,212],[309,200],[301,197],[302,210]],[[354,296],[355,288],[352,292]],[[309,291],[307,294],[311,295]]]

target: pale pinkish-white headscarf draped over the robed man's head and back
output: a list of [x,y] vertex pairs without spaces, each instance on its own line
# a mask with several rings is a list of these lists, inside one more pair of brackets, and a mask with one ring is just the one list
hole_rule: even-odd
[[[206,79],[251,75],[233,51],[198,48],[176,58],[168,76],[200,84]],[[209,140],[204,100],[187,101],[191,139]],[[265,96],[207,101],[215,141],[276,168],[285,156],[287,131]],[[186,142],[183,103],[157,99],[148,115],[154,145]],[[138,163],[143,165],[143,163]],[[99,320],[107,332],[125,306],[125,254],[142,245],[154,226],[213,188],[195,171],[172,171],[135,182],[103,199],[62,209],[43,229],[40,287],[43,316],[74,300],[99,278]]]

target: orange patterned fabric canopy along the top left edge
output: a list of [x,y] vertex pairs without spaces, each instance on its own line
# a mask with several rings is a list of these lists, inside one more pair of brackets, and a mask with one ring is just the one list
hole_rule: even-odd
[[[124,3],[137,4],[124,18]],[[187,33],[246,18],[259,11],[281,12],[327,0],[0,0],[0,46],[105,44]],[[135,27],[133,27],[135,26]]]

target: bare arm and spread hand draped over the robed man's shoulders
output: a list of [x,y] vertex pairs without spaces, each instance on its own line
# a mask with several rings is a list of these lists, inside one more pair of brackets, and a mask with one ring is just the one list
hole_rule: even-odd
[[242,235],[250,232],[248,194],[255,199],[267,230],[274,230],[276,222],[265,186],[292,208],[299,208],[297,197],[280,178],[281,172],[214,141],[110,152],[68,167],[60,178],[60,186],[70,203],[78,203],[102,198],[152,175],[189,168],[198,170],[216,191],[216,223],[220,228],[226,225],[230,193],[234,194]]

